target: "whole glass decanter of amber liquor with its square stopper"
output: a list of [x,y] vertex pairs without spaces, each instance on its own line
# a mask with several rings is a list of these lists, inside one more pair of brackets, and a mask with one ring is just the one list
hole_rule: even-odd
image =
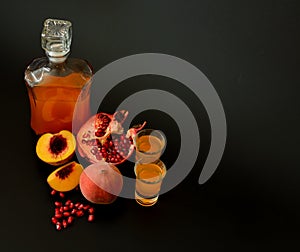
[[25,71],[31,127],[36,134],[57,133],[63,129],[71,131],[79,94],[76,105],[79,122],[76,125],[90,116],[92,69],[85,60],[68,58],[72,40],[71,22],[47,19],[41,40],[47,57],[33,60]]

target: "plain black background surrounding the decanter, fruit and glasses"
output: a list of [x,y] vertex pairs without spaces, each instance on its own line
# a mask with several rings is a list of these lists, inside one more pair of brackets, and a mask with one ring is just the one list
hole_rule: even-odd
[[[28,0],[1,5],[1,251],[269,251],[297,245],[299,1]],[[132,78],[112,90],[103,110],[113,110],[138,89],[172,90],[201,125],[195,167],[151,208],[119,198],[97,207],[95,223],[82,219],[55,231],[46,183],[52,170],[35,155],[23,81],[26,65],[43,55],[40,32],[48,17],[72,21],[71,56],[88,59],[95,71],[124,56],[156,52],[185,59],[209,78],[226,112],[228,139],[207,183],[198,184],[210,142],[201,102],[173,80]],[[179,148],[176,122],[155,111],[136,120],[144,118],[169,136],[162,159],[170,166]]]

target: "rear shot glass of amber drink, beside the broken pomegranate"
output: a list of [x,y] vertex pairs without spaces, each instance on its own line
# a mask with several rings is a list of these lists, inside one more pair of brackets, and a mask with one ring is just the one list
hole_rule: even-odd
[[136,147],[136,161],[139,163],[153,163],[160,159],[166,146],[163,133],[155,129],[143,129],[133,139]]

